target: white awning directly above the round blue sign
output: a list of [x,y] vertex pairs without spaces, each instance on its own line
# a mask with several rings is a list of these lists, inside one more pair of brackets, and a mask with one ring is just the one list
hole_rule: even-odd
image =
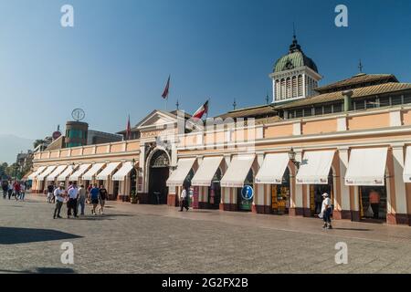
[[234,156],[220,185],[233,188],[243,187],[255,158],[255,154]]

